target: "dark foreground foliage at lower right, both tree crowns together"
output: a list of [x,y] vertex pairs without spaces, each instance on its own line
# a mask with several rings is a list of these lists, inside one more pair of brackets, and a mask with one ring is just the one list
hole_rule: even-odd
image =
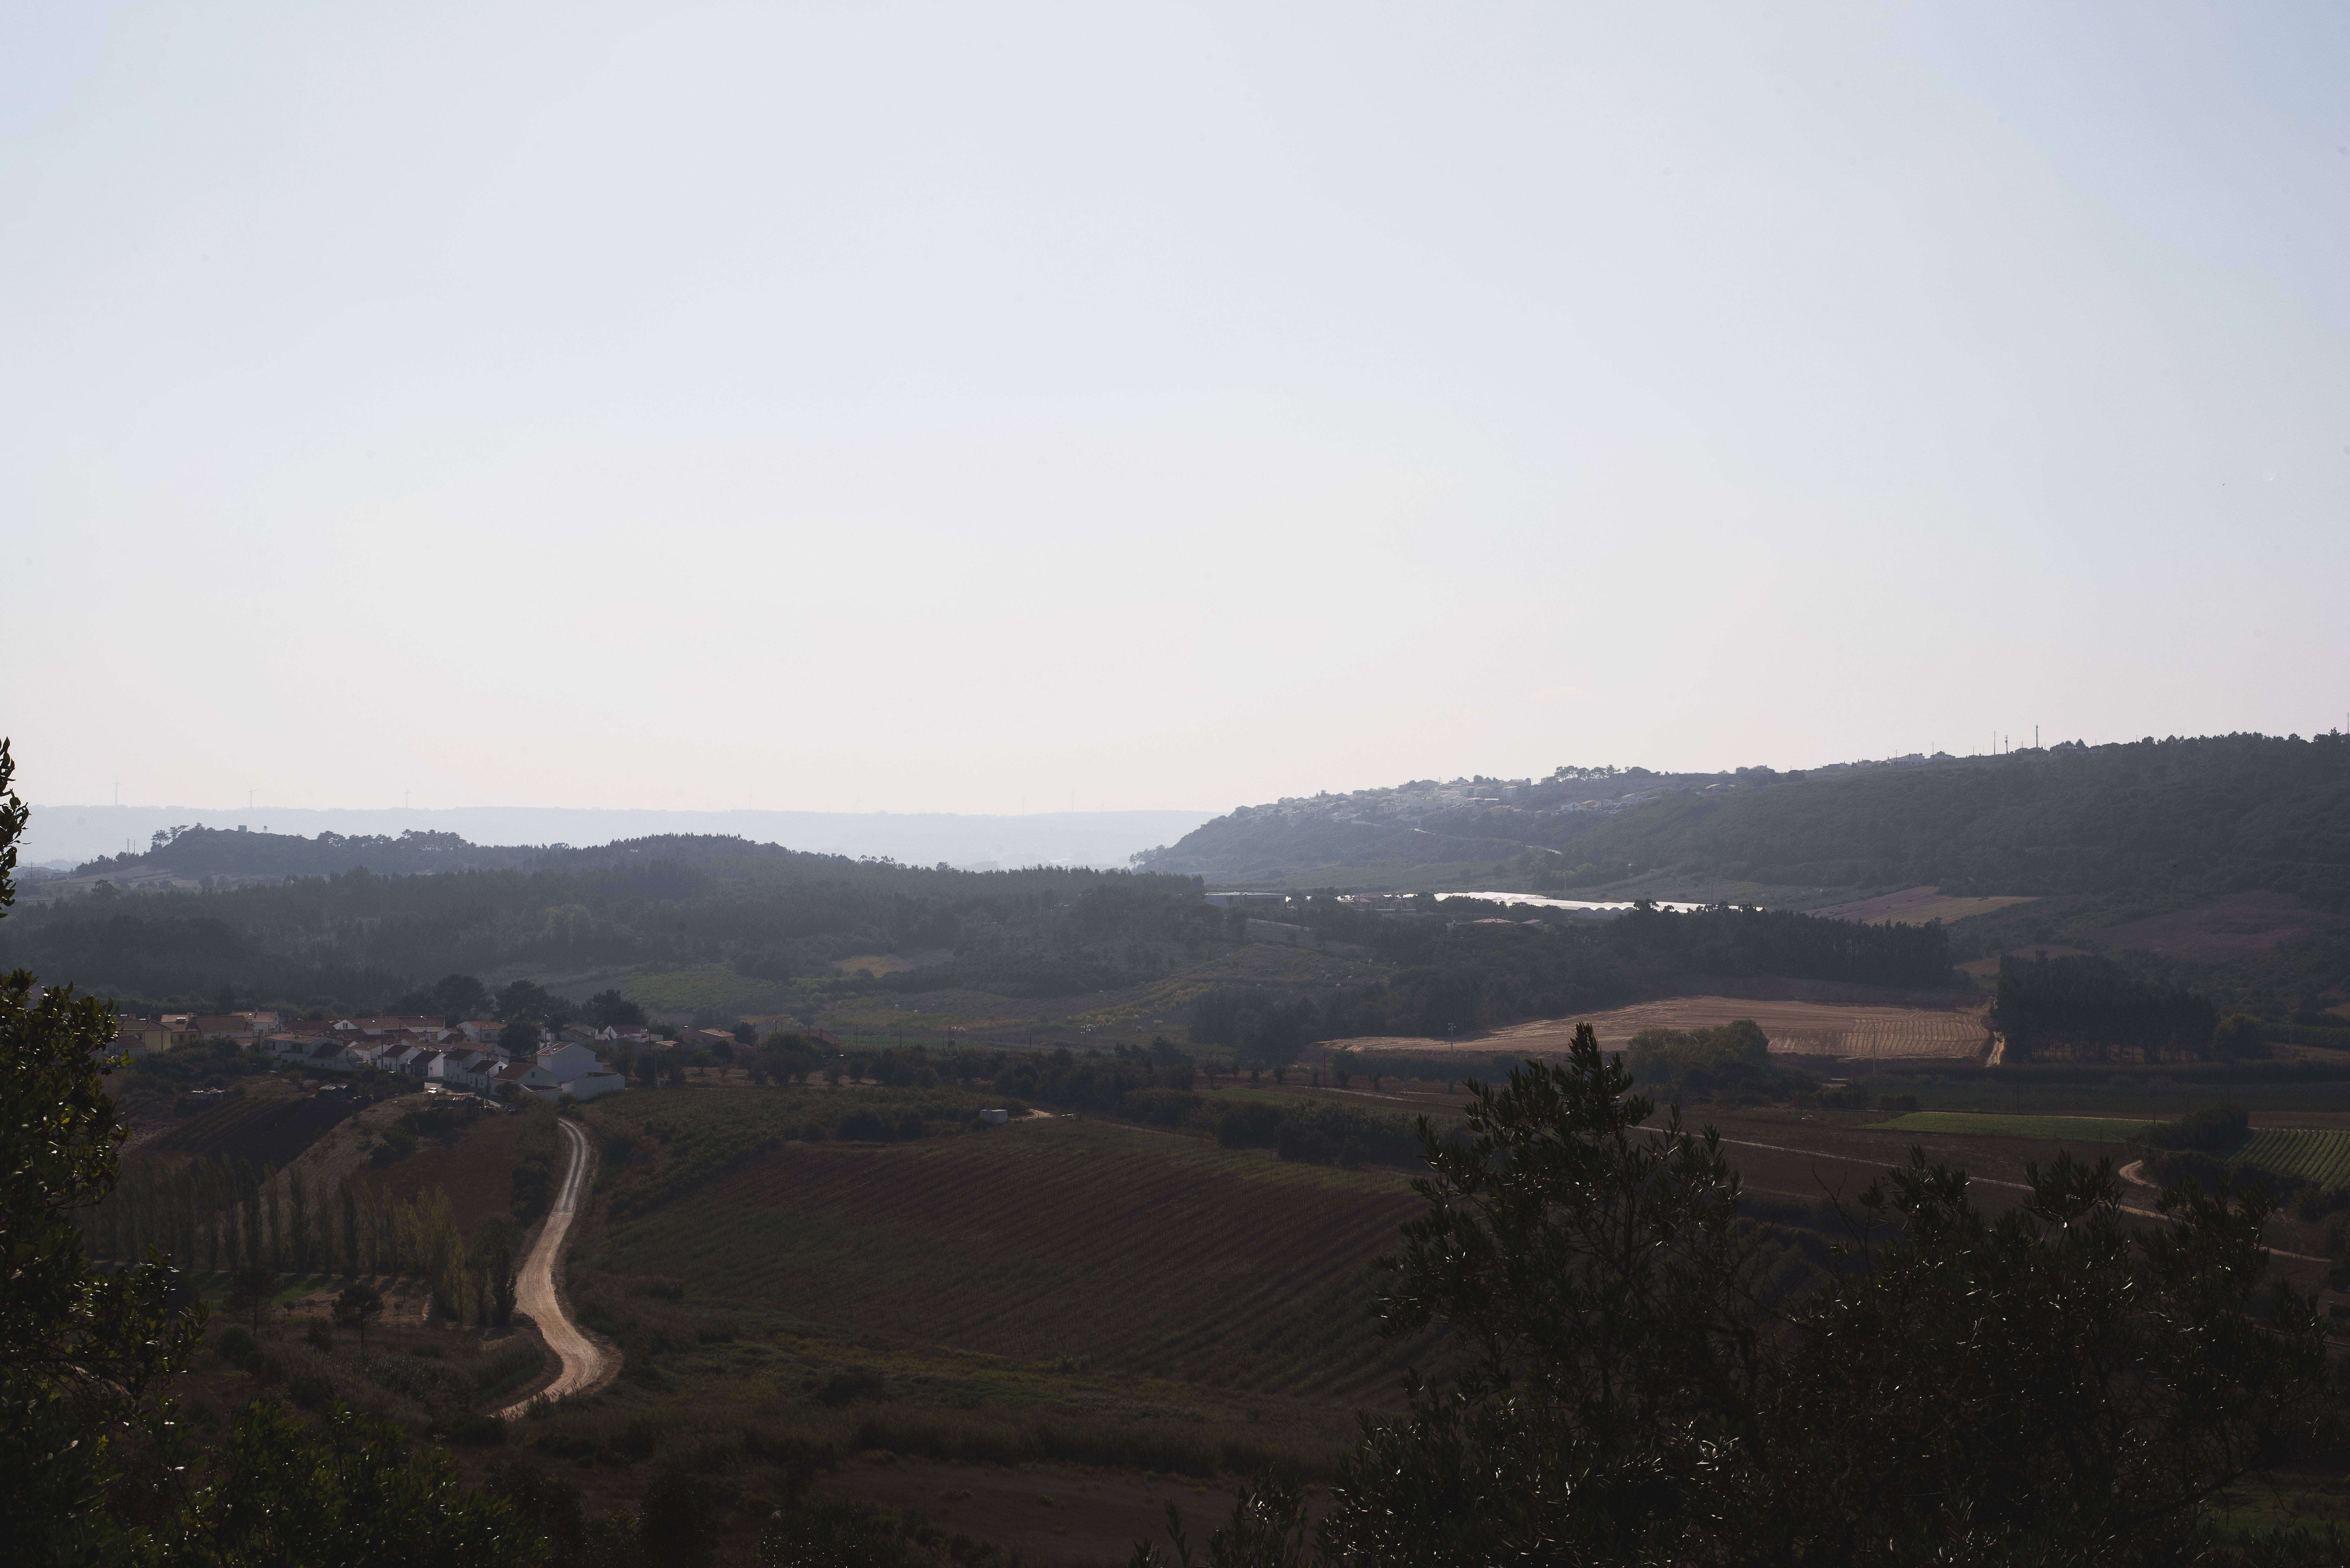
[[1260,1488],[1210,1563],[2303,1561],[2209,1514],[2331,1422],[2310,1302],[2256,1302],[2265,1197],[2181,1185],[2131,1232],[2061,1157],[1993,1220],[1913,1157],[1861,1197],[1885,1234],[1774,1312],[1716,1138],[1638,1131],[1629,1088],[1586,1027],[1429,1133],[1379,1312],[1471,1371],[1365,1418],[1311,1542]]

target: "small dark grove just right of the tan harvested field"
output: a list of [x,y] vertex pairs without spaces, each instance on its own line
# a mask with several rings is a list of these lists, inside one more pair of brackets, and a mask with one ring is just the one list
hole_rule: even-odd
[[2019,1058],[2207,1056],[2218,1027],[2209,999],[2134,978],[2099,957],[2000,959],[1993,1025]]

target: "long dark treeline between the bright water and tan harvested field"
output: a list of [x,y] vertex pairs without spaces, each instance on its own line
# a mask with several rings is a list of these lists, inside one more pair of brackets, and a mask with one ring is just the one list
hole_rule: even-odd
[[[1448,903],[1462,907],[1459,900]],[[1295,1060],[1318,1039],[1431,1039],[1523,1018],[1565,1018],[1673,994],[1685,976],[1793,976],[1887,987],[1950,983],[1941,926],[1859,926],[1781,910],[1638,907],[1600,924],[1520,926],[1382,919],[1311,900],[1316,933],[1361,940],[1408,964],[1401,973],[1325,994],[1276,997],[1217,987],[1191,1009],[1191,1039],[1250,1060]]]

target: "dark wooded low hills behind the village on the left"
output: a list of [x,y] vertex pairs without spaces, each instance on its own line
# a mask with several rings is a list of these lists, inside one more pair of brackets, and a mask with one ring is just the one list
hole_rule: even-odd
[[[249,835],[228,835],[249,837]],[[139,997],[364,1006],[416,976],[618,964],[731,964],[783,980],[862,952],[952,950],[1034,994],[1039,961],[1135,969],[1140,936],[1213,933],[1187,877],[1032,867],[956,872],[808,856],[743,839],[642,839],[555,851],[517,870],[352,870],[216,893],[85,898],[19,910],[0,964]],[[1203,922],[1203,924],[1201,924]],[[959,983],[971,983],[966,971]],[[985,978],[985,976],[982,976]]]

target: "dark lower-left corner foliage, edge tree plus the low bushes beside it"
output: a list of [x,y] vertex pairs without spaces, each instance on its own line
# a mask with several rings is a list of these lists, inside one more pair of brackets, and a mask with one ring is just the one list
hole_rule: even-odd
[[[0,914],[24,802],[0,741]],[[228,1448],[190,1448],[169,1380],[204,1331],[172,1309],[157,1251],[89,1267],[75,1208],[120,1182],[125,1128],[101,1086],[113,1009],[33,976],[0,978],[0,1540],[24,1563],[458,1563],[531,1568],[545,1542],[496,1497],[468,1495],[437,1450],[329,1408],[317,1429],[275,1403],[235,1415]],[[247,1265],[254,1267],[254,1265]],[[247,1279],[247,1286],[254,1281]],[[258,1302],[263,1288],[249,1291]]]

